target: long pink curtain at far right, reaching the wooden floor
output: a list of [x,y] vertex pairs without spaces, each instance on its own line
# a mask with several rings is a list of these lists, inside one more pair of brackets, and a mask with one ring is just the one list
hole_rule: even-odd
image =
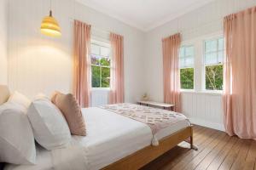
[[242,139],[256,139],[256,8],[224,18],[224,125]]

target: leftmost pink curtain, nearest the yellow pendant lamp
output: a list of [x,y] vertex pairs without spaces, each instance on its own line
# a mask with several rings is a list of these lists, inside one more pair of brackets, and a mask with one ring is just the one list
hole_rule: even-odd
[[90,106],[90,26],[74,21],[74,94],[81,107]]

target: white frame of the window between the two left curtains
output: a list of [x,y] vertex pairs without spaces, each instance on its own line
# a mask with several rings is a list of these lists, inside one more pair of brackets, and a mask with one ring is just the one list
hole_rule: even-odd
[[[113,68],[113,65],[112,65],[112,50],[111,50],[111,44],[109,41],[103,41],[102,39],[99,39],[99,38],[93,38],[90,40],[90,46],[91,44],[95,44],[95,45],[98,45],[98,46],[101,46],[101,47],[104,47],[104,48],[109,48],[110,49],[110,53],[109,53],[109,59],[110,59],[110,65],[109,66],[105,66],[105,65],[93,65],[90,63],[90,79],[92,80],[92,69],[91,69],[91,66],[98,66],[98,67],[101,67],[101,68],[109,68],[110,70],[110,79],[111,79],[111,71],[112,71],[112,68]],[[90,59],[91,59],[91,54],[90,53]],[[108,58],[107,56],[103,56],[103,55],[100,55],[102,58]],[[100,69],[101,71],[101,76],[102,76],[102,69]],[[104,88],[102,87],[102,77],[100,77],[100,85],[101,87],[99,88],[96,88],[96,87],[92,87],[92,81],[90,82],[90,88],[95,91],[95,90],[110,90],[110,82],[109,82],[109,87],[108,88]]]

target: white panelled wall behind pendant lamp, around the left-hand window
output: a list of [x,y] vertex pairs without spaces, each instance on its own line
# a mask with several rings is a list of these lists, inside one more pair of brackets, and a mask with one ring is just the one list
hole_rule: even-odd
[[97,31],[113,31],[125,37],[125,101],[142,95],[144,33],[74,0],[54,0],[53,14],[62,37],[40,34],[41,20],[49,13],[49,1],[9,0],[9,86],[32,97],[38,92],[72,91],[73,20]]

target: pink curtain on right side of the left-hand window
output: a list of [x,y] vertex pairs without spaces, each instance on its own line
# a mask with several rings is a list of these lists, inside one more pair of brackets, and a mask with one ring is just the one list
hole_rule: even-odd
[[124,102],[124,37],[111,33],[112,70],[110,78],[109,103]]

